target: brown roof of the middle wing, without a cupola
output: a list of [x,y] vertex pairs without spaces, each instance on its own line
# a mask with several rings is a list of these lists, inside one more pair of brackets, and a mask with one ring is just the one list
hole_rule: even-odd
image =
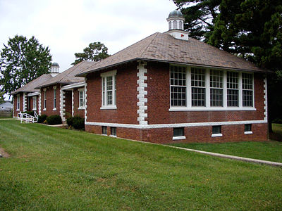
[[39,89],[41,87],[47,87],[52,84],[75,84],[79,82],[84,82],[84,78],[75,77],[75,75],[80,73],[80,71],[82,70],[90,68],[95,63],[96,62],[82,61],[78,63],[77,65],[74,65],[73,67],[68,68],[68,70],[61,72],[59,75],[56,75],[56,77],[52,77],[47,82],[39,84],[39,86],[37,86],[36,88]]

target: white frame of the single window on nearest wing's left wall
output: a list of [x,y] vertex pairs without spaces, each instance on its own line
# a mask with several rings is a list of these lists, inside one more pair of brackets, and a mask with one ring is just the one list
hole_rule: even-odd
[[[100,74],[101,76],[101,98],[102,98],[102,106],[100,109],[116,109],[116,70],[112,70],[109,72],[103,72]],[[111,104],[107,104],[107,98],[109,90],[107,90],[106,79],[107,77],[112,77],[112,89],[111,89]],[[105,86],[104,86],[105,85]]]

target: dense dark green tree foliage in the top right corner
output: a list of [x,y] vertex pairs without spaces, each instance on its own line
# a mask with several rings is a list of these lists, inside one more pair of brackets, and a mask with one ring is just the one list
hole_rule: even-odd
[[209,44],[261,68],[281,70],[281,1],[222,0],[219,9]]

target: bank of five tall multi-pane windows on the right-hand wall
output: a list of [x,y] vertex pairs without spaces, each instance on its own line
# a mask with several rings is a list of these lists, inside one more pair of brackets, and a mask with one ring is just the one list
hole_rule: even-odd
[[252,73],[170,67],[170,110],[255,110]]

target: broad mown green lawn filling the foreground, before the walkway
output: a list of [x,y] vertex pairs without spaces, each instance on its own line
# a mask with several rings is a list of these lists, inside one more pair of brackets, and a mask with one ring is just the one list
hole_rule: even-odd
[[282,169],[0,121],[0,210],[282,210]]

